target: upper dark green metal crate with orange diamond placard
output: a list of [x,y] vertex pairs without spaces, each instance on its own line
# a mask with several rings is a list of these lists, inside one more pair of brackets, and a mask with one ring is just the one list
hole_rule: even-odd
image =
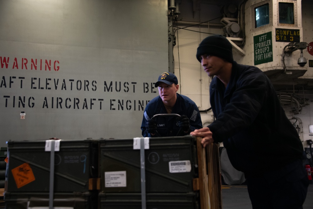
[[[8,192],[49,192],[50,152],[46,141],[9,141]],[[54,192],[89,191],[98,177],[98,141],[61,140],[54,152]]]

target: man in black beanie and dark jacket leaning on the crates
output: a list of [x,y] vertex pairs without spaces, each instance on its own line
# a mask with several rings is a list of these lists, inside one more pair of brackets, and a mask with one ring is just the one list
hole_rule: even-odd
[[303,144],[269,78],[233,61],[232,45],[221,35],[203,39],[196,57],[212,77],[215,120],[190,135],[202,137],[203,147],[223,142],[233,167],[244,173],[252,208],[303,208],[309,186]]

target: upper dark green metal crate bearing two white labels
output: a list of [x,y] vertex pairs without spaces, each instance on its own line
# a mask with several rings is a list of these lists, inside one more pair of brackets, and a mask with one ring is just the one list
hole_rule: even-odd
[[[141,192],[141,155],[134,139],[100,140],[101,191]],[[144,151],[147,193],[193,192],[198,177],[196,139],[192,136],[149,139]]]

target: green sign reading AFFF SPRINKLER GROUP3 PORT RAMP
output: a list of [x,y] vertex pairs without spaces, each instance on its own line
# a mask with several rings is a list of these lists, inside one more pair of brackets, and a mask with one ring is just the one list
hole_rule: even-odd
[[273,62],[272,32],[253,37],[254,65]]

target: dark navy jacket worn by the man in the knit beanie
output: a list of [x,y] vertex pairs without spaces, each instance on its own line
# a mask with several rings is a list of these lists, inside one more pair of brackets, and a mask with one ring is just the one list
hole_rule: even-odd
[[302,159],[303,145],[268,77],[257,67],[233,62],[230,81],[210,84],[215,121],[208,128],[223,142],[234,168],[246,175]]

